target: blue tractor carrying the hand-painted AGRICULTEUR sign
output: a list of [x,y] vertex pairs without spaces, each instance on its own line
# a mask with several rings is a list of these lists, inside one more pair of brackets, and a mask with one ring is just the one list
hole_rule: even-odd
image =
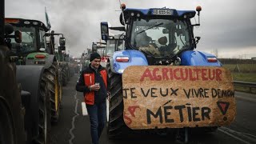
[[[196,10],[199,16],[201,7],[198,6]],[[126,114],[126,110],[124,110],[124,107],[126,107],[126,102],[124,101],[126,101],[127,94],[132,95],[134,92],[132,90],[127,92],[124,88],[123,74],[131,66],[222,66],[221,62],[213,54],[194,50],[200,39],[200,37],[194,38],[193,32],[194,26],[200,26],[200,22],[196,24],[191,24],[190,22],[190,19],[194,18],[195,14],[196,11],[194,10],[133,9],[122,5],[122,14],[120,14],[119,18],[123,25],[122,27],[109,27],[107,22],[101,22],[103,40],[110,38],[109,30],[123,30],[125,32],[119,37],[119,41],[124,42],[124,49],[115,51],[106,65],[111,81],[107,127],[109,138],[122,138],[122,136],[131,131],[177,128],[168,125],[161,126],[162,122],[153,127],[149,126],[149,122],[147,124],[145,124],[146,122],[141,122],[137,127],[130,125],[131,118],[136,116],[134,111],[138,109],[132,106],[128,108],[130,110],[130,118]],[[150,73],[146,73],[146,76],[150,76],[153,79],[154,72],[157,73],[153,71],[152,77]],[[129,71],[129,73],[130,75],[136,75],[139,74],[139,70]],[[154,84],[151,84],[151,86],[154,86]],[[135,86],[134,89],[136,89]],[[143,94],[145,96],[146,92]],[[142,109],[139,108],[139,110]],[[157,118],[159,114],[154,113],[150,116],[152,117],[153,115],[154,118]],[[163,117],[166,118],[166,115]],[[189,126],[182,126],[181,124],[178,129],[175,129],[178,131],[178,137],[182,137],[182,141],[185,142],[188,140],[189,130],[186,127]],[[208,130],[217,129],[217,126],[214,125],[204,125],[203,127],[207,127]]]

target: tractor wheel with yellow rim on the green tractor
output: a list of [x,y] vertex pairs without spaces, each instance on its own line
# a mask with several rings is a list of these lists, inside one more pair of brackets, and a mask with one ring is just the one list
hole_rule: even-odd
[[46,69],[46,82],[48,90],[50,90],[50,118],[51,122],[55,123],[58,122],[60,104],[58,67],[56,62]]

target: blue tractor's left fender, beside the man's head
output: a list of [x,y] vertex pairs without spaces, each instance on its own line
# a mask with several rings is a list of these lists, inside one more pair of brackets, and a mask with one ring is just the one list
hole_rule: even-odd
[[[128,57],[128,62],[117,62],[116,58],[120,57]],[[112,62],[111,62],[112,61]],[[148,66],[148,62],[146,59],[146,56],[139,50],[120,50],[116,51],[113,54],[112,60],[110,63],[112,63],[111,70],[114,73],[122,74],[123,71],[128,66]]]

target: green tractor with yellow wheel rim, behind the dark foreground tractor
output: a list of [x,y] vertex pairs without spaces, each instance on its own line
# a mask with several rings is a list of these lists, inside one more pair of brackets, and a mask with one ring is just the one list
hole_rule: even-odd
[[[14,61],[23,70],[24,66],[41,66],[42,78],[38,80],[40,85],[44,83],[46,89],[50,93],[50,120],[51,122],[58,122],[59,107],[62,99],[62,75],[61,69],[58,66],[58,60],[54,55],[52,45],[46,46],[46,32],[49,31],[44,23],[37,20],[29,20],[22,18],[6,18],[6,23],[14,27],[14,30],[22,32],[22,42],[17,44],[11,41],[12,49],[11,55]],[[31,74],[31,71],[22,71],[20,75],[24,80],[24,75]],[[26,86],[22,88],[32,89],[28,78],[24,82]],[[40,95],[41,93],[39,93]]]

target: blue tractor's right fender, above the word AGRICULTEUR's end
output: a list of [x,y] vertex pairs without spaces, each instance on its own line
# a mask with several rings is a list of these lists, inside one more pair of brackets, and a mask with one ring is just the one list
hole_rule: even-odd
[[216,58],[213,54],[207,54],[197,50],[186,50],[181,54],[182,66],[222,66],[222,63],[208,62],[207,58]]

